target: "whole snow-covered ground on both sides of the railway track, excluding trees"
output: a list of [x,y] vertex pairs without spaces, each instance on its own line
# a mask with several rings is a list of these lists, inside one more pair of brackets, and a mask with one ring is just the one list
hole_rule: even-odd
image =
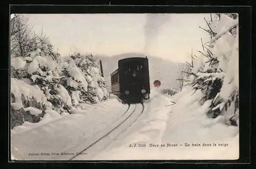
[[[74,114],[15,127],[11,131],[11,153],[19,160],[68,160],[74,156],[68,153],[80,153],[137,110],[116,132],[73,160],[238,159],[239,128],[224,124],[221,115],[208,118],[205,112],[210,102],[200,105],[200,96],[200,91],[194,93],[189,86],[174,96],[152,90],[141,116],[139,105],[131,105],[123,115],[128,106],[115,97],[97,106],[80,105],[80,109],[73,109]],[[56,154],[61,152],[66,155]]]

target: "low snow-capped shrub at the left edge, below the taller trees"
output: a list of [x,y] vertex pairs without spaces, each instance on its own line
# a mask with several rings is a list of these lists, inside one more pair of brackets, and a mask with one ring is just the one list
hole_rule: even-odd
[[11,78],[11,128],[28,121],[37,123],[49,107],[45,94],[37,85]]

